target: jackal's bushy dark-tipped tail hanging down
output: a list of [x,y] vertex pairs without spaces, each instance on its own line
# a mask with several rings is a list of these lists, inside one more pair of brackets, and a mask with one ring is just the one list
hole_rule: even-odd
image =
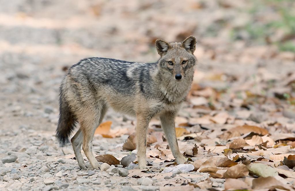
[[66,146],[70,143],[69,137],[76,127],[76,116],[71,112],[68,102],[63,97],[62,90],[60,90],[59,98],[59,120],[56,129],[56,138],[58,139],[60,147]]

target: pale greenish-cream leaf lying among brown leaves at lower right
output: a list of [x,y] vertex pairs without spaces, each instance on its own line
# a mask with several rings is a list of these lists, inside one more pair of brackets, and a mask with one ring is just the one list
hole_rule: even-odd
[[268,177],[268,176],[276,176],[278,175],[278,172],[273,167],[270,167],[266,164],[257,162],[257,163],[251,163],[247,165],[249,171],[257,176],[262,177]]

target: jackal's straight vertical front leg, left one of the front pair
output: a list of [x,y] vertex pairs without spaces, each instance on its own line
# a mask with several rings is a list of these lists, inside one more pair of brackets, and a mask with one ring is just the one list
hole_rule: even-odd
[[146,162],[146,150],[147,150],[147,134],[148,134],[148,124],[150,122],[150,117],[146,117],[145,114],[137,113],[137,157],[138,165],[140,169],[147,168]]

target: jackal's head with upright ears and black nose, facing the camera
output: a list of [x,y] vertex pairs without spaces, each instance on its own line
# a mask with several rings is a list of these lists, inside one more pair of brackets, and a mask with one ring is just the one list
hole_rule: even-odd
[[161,56],[158,64],[165,73],[170,73],[177,81],[185,78],[186,72],[196,64],[195,37],[189,36],[183,42],[172,43],[158,39],[155,43],[158,54]]

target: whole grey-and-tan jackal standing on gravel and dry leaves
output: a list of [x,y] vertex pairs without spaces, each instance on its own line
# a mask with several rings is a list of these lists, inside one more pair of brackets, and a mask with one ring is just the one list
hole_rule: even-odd
[[60,146],[65,146],[76,122],[80,123],[71,142],[81,169],[86,168],[81,145],[91,166],[100,168],[92,152],[92,140],[109,107],[137,118],[140,169],[146,167],[148,124],[155,116],[160,117],[176,162],[186,162],[178,149],[174,120],[193,80],[196,39],[189,36],[181,43],[158,39],[155,44],[160,54],[156,63],[87,58],[68,69],[60,86],[56,137]]

